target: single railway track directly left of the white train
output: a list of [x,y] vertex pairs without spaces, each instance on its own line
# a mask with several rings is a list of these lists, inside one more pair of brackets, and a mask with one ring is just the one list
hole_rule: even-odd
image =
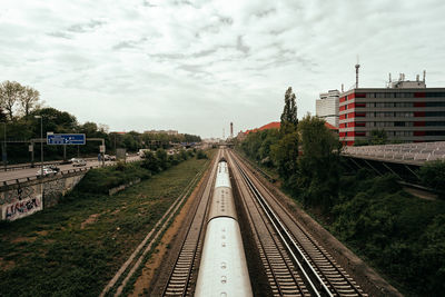
[[214,159],[210,175],[206,180],[206,186],[198,194],[199,202],[191,212],[192,220],[187,229],[186,238],[176,259],[175,266],[170,271],[167,284],[164,287],[162,296],[191,296],[196,283],[196,268],[199,267],[199,257],[202,249],[205,218],[210,202],[212,181],[216,175],[217,160],[220,152]]

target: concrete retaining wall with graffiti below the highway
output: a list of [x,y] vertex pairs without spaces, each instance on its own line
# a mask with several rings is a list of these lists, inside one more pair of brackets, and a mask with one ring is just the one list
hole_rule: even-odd
[[79,171],[0,187],[1,220],[24,218],[57,205],[85,174],[86,171]]

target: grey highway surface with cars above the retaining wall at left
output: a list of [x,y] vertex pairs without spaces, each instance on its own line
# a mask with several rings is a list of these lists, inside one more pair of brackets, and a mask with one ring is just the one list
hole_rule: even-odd
[[[127,157],[127,162],[128,161],[137,161],[140,160],[138,156],[130,156]],[[78,168],[90,168],[90,167],[98,167],[99,161],[96,159],[86,159],[87,166],[81,166],[81,167],[73,167],[72,164],[65,164],[65,165],[58,165],[57,167],[60,168],[60,171],[67,171],[67,170],[72,170],[72,169],[78,169]],[[57,161],[55,161],[57,162]],[[115,164],[115,161],[106,161],[106,165],[111,165]],[[101,162],[100,162],[101,165]],[[24,169],[16,169],[16,170],[8,170],[8,171],[0,171],[0,182],[3,181],[9,181],[9,180],[14,180],[14,179],[26,179],[28,177],[36,177],[37,172],[40,170],[40,164],[36,162],[34,168],[24,168]],[[2,168],[0,168],[2,170]],[[9,184],[9,182],[8,182]]]

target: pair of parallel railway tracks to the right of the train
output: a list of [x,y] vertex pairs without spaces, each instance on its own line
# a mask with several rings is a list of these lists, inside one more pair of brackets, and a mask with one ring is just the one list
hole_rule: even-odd
[[367,296],[234,154],[229,161],[275,296]]

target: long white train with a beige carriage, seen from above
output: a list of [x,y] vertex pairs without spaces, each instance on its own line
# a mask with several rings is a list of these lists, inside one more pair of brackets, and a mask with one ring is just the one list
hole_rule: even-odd
[[253,296],[227,161],[218,164],[196,297]]

